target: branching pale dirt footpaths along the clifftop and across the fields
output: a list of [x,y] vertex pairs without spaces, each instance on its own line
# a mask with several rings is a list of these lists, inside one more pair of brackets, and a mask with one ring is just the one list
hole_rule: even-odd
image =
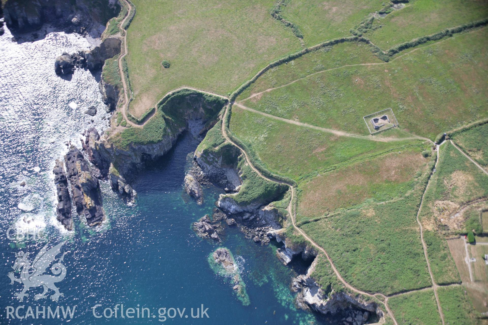
[[[131,3],[126,1],[126,0],[122,0],[125,2],[127,8],[128,8],[128,14],[127,16],[121,21],[120,25],[123,26],[126,19],[129,19],[129,13],[134,10],[134,8],[132,7]],[[445,39],[444,39],[445,40]],[[444,40],[440,40],[439,42],[442,42]],[[432,271],[430,269],[430,264],[429,264],[429,260],[428,260],[428,255],[427,255],[427,246],[426,246],[426,243],[424,241],[424,237],[423,237],[423,227],[422,227],[422,224],[421,222],[419,221],[418,219],[418,215],[419,215],[419,212],[422,208],[422,203],[423,203],[423,199],[424,199],[424,196],[425,196],[425,193],[427,191],[427,188],[429,186],[429,181],[430,181],[430,175],[429,175],[429,179],[427,181],[427,185],[426,185],[426,188],[424,190],[424,193],[423,193],[423,196],[422,196],[422,199],[421,199],[421,203],[420,203],[420,206],[419,206],[419,210],[417,211],[417,222],[419,224],[419,228],[420,228],[420,235],[421,235],[421,242],[422,242],[422,245],[423,245],[423,249],[424,249],[424,255],[425,255],[425,259],[426,259],[426,262],[427,262],[427,267],[428,267],[428,272],[429,272],[429,275],[430,275],[430,279],[431,279],[431,282],[432,282],[432,286],[431,287],[427,287],[427,288],[423,288],[423,289],[416,289],[416,290],[409,290],[409,291],[405,291],[405,292],[402,292],[402,293],[397,293],[397,294],[393,294],[393,295],[390,295],[390,296],[386,296],[382,293],[368,293],[368,292],[365,292],[365,291],[362,291],[358,288],[355,288],[353,286],[351,286],[349,283],[346,282],[346,280],[341,276],[341,274],[339,273],[339,271],[337,270],[337,268],[335,267],[333,261],[331,260],[331,258],[329,257],[328,253],[325,251],[324,248],[322,248],[321,246],[319,246],[316,242],[314,242],[306,233],[304,230],[302,230],[301,228],[299,228],[297,225],[296,225],[296,207],[294,207],[294,202],[295,202],[295,198],[296,198],[296,186],[290,182],[286,182],[286,181],[283,181],[283,180],[279,180],[279,179],[276,179],[276,178],[273,178],[273,177],[269,177],[269,176],[265,176],[262,172],[260,172],[252,163],[251,159],[249,158],[248,156],[248,153],[246,153],[246,151],[239,145],[237,144],[235,141],[233,141],[229,135],[227,134],[227,126],[226,126],[226,123],[225,121],[227,120],[227,117],[228,115],[230,114],[231,112],[231,109],[232,109],[232,106],[235,105],[235,107],[239,108],[239,109],[243,109],[243,110],[247,110],[247,111],[251,111],[253,113],[257,113],[257,114],[261,114],[261,115],[264,115],[266,117],[270,117],[270,118],[273,118],[273,119],[277,119],[277,120],[280,120],[280,121],[283,121],[283,122],[286,122],[286,123],[290,123],[290,124],[295,124],[295,125],[299,125],[299,126],[303,126],[303,127],[307,127],[307,128],[312,128],[312,129],[315,129],[315,130],[319,130],[319,131],[322,131],[322,132],[326,132],[326,133],[331,133],[331,134],[335,134],[335,135],[339,135],[339,136],[348,136],[348,137],[356,137],[356,138],[362,138],[362,139],[368,139],[368,140],[371,140],[371,141],[382,141],[382,142],[389,142],[389,141],[400,141],[400,140],[406,140],[406,139],[423,139],[425,141],[429,141],[429,142],[432,142],[430,139],[427,139],[427,138],[424,138],[424,137],[421,137],[421,136],[416,136],[416,135],[413,135],[411,137],[407,137],[407,138],[383,138],[383,137],[375,137],[375,136],[372,136],[372,135],[359,135],[359,134],[349,134],[349,133],[346,133],[346,132],[342,132],[342,131],[339,131],[339,130],[333,130],[333,129],[327,129],[327,128],[322,128],[322,127],[317,127],[317,126],[313,126],[313,125],[310,125],[310,124],[306,124],[306,123],[302,123],[302,122],[298,122],[298,121],[294,121],[294,120],[289,120],[289,119],[285,119],[285,118],[281,118],[281,117],[278,117],[278,116],[274,116],[274,115],[270,115],[270,114],[266,114],[264,112],[260,112],[260,111],[256,111],[256,110],[253,110],[251,108],[248,108],[248,107],[245,107],[242,102],[245,100],[245,99],[249,99],[249,98],[252,98],[254,96],[259,96],[260,94],[262,93],[265,93],[265,92],[269,92],[269,91],[272,91],[274,89],[277,89],[277,88],[281,88],[281,87],[285,87],[286,85],[289,85],[293,82],[296,82],[298,80],[301,80],[303,79],[304,77],[302,78],[299,78],[299,79],[296,79],[294,81],[291,81],[289,82],[288,84],[286,85],[282,85],[282,86],[279,86],[279,87],[275,87],[275,88],[270,88],[270,89],[267,89],[267,90],[264,90],[260,93],[257,93],[257,94],[252,94],[251,96],[239,101],[239,102],[234,102],[232,99],[235,97],[235,96],[222,96],[222,95],[219,95],[219,94],[214,94],[214,93],[211,93],[211,92],[207,92],[207,91],[204,91],[204,90],[201,90],[201,89],[196,89],[196,88],[192,88],[192,87],[187,87],[187,86],[182,86],[182,87],[179,87],[177,89],[174,89],[170,92],[168,92],[165,96],[163,96],[163,98],[161,98],[154,106],[154,110],[152,111],[152,113],[150,113],[149,115],[146,116],[146,118],[144,119],[144,122],[139,124],[139,123],[135,123],[133,122],[131,119],[129,119],[127,117],[127,112],[129,110],[129,103],[130,103],[130,94],[129,94],[129,89],[127,87],[127,80],[126,80],[126,76],[124,73],[122,73],[123,71],[123,67],[122,67],[122,60],[123,58],[127,55],[128,53],[128,49],[127,49],[127,33],[125,32],[124,35],[123,35],[123,46],[122,46],[122,49],[123,51],[121,50],[122,55],[119,57],[118,59],[118,66],[119,66],[119,70],[121,72],[121,80],[122,80],[122,86],[123,86],[123,90],[124,90],[124,98],[123,98],[123,104],[122,106],[120,107],[119,109],[119,112],[122,113],[122,116],[123,118],[125,119],[125,121],[127,122],[127,124],[130,124],[132,127],[136,127],[136,128],[142,128],[156,113],[156,110],[157,110],[157,105],[159,102],[161,102],[161,100],[163,100],[165,97],[168,97],[168,96],[171,96],[172,94],[178,92],[178,91],[181,91],[181,90],[192,90],[192,91],[195,91],[195,92],[199,92],[199,93],[203,93],[203,94],[207,94],[207,95],[212,95],[212,96],[217,96],[217,97],[220,97],[220,98],[223,98],[225,100],[227,100],[229,103],[225,106],[225,111],[224,111],[224,116],[222,117],[222,120],[221,120],[221,123],[222,123],[222,135],[224,136],[224,139],[226,142],[232,144],[233,146],[237,147],[240,152],[242,153],[242,155],[244,156],[245,158],[245,161],[247,162],[247,164],[249,165],[249,167],[254,171],[256,172],[260,177],[268,180],[268,181],[272,181],[272,182],[277,182],[277,183],[280,183],[280,184],[285,184],[287,185],[289,188],[290,188],[290,192],[291,192],[291,198],[290,198],[290,202],[289,202],[289,205],[287,207],[287,213],[289,214],[290,216],[290,221],[291,221],[291,225],[293,226],[294,229],[296,229],[304,238],[306,241],[308,241],[313,247],[315,247],[316,249],[318,249],[319,251],[323,252],[325,257],[327,258],[328,262],[330,263],[331,265],[331,268],[333,269],[336,277],[342,282],[342,284],[350,291],[352,292],[355,292],[355,293],[358,293],[358,294],[361,294],[361,295],[365,295],[367,297],[370,297],[370,298],[373,298],[378,304],[380,305],[383,305],[385,306],[385,309],[386,309],[386,312],[388,314],[388,316],[391,318],[391,320],[393,321],[393,323],[395,325],[398,325],[394,315],[393,315],[393,312],[391,311],[391,309],[389,308],[388,306],[388,298],[389,297],[393,297],[393,296],[398,296],[398,295],[402,295],[402,294],[406,294],[406,293],[409,293],[409,292],[415,292],[415,291],[422,291],[422,290],[427,290],[427,289],[430,289],[432,288],[433,291],[434,291],[434,294],[435,294],[435,298],[436,298],[436,303],[437,303],[437,307],[438,307],[438,311],[439,311],[439,314],[440,314],[440,317],[441,317],[441,320],[442,320],[442,324],[444,325],[445,322],[444,322],[444,313],[442,311],[442,307],[440,305],[440,302],[439,302],[439,298],[438,298],[438,295],[437,295],[437,288],[438,287],[448,287],[448,286],[459,286],[459,284],[451,284],[451,285],[447,285],[447,286],[440,286],[440,285],[437,285],[435,282],[434,282],[434,278],[433,278],[433,275],[432,275]],[[438,42],[437,42],[438,43]],[[429,46],[429,45],[427,45]],[[407,53],[404,53],[398,57],[395,57],[393,58],[392,60],[395,60],[399,57],[403,57],[404,55],[407,55],[408,53],[411,53],[413,51],[416,51],[418,50],[418,48],[415,48],[411,51],[408,51]],[[358,65],[381,65],[381,64],[386,64],[387,62],[384,62],[384,63],[363,63],[363,64],[358,64]],[[345,65],[345,66],[354,66],[354,65]],[[324,70],[324,71],[319,71],[319,72],[315,72],[311,75],[314,75],[314,74],[320,74],[320,73],[323,73],[325,71],[330,71],[330,70],[334,70],[334,69],[339,69],[339,68],[342,68],[342,67],[337,67],[337,68],[332,68],[332,69],[327,69],[327,70]],[[260,73],[258,73],[258,75],[260,75]],[[130,114],[130,113],[129,113]],[[451,141],[452,142],[452,141]],[[432,142],[433,143],[433,142]],[[436,159],[436,165],[437,165],[437,162],[438,162],[438,156],[439,156],[439,147],[440,147],[441,144],[437,145],[436,144],[436,147],[437,147],[437,159]],[[454,144],[453,144],[454,145]],[[465,155],[473,164],[475,164],[478,168],[480,168],[481,170],[483,170],[483,172],[485,172],[486,174],[488,174],[488,172],[486,172],[481,166],[479,166],[474,160],[472,160],[466,153],[462,152],[462,150],[460,150],[456,145],[454,145],[456,147],[456,149],[458,149],[461,153],[463,153],[463,155]],[[381,298],[381,299],[380,299]]]

